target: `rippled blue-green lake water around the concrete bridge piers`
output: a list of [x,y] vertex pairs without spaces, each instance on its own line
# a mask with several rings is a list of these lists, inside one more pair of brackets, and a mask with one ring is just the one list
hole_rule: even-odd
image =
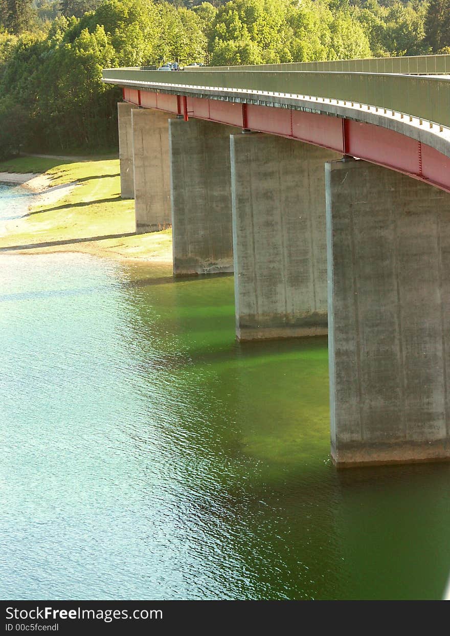
[[440,598],[449,466],[334,469],[325,339],[239,345],[232,277],[0,283],[1,598]]

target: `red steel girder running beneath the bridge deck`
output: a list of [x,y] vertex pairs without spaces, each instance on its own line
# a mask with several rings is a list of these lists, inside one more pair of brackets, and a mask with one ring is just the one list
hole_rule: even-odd
[[406,135],[371,123],[290,108],[238,104],[123,88],[130,104],[305,141],[403,172],[450,192],[450,158]]

